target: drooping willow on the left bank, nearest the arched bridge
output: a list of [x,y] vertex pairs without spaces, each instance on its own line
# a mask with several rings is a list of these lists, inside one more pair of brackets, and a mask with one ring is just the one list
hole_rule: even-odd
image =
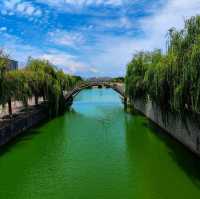
[[75,84],[73,77],[58,70],[47,60],[30,58],[25,68],[33,73],[29,82],[35,102],[43,97],[49,107],[49,114],[54,116],[63,112],[65,106],[64,91]]

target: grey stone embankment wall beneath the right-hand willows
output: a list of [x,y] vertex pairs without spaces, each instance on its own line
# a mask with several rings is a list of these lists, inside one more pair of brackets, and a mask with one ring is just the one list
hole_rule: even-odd
[[169,113],[167,121],[165,121],[160,108],[151,101],[145,103],[142,100],[135,100],[133,104],[136,110],[143,113],[200,157],[200,129],[189,120],[189,116],[183,121],[180,117]]

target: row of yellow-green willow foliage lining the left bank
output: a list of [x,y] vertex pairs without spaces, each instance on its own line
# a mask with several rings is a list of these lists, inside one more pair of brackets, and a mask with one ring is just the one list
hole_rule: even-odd
[[24,69],[15,71],[4,70],[6,63],[2,62],[0,66],[3,71],[0,104],[11,99],[22,101],[27,106],[29,98],[34,96],[37,104],[38,98],[43,97],[48,104],[50,116],[65,110],[64,92],[70,90],[78,81],[46,60],[30,58]]

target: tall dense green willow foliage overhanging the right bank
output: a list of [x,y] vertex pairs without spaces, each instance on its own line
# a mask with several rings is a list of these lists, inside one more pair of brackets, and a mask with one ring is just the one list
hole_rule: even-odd
[[200,113],[200,16],[169,30],[168,48],[140,52],[127,66],[130,99],[150,98],[162,110]]

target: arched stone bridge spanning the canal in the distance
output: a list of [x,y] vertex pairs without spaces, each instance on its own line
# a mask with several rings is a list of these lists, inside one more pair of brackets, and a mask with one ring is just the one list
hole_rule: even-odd
[[73,101],[73,97],[76,96],[80,91],[82,91],[83,89],[92,88],[92,87],[112,88],[117,93],[119,93],[121,95],[121,97],[123,98],[124,102],[126,102],[127,98],[126,98],[126,95],[125,95],[125,89],[120,85],[117,85],[115,83],[108,83],[108,82],[89,82],[89,83],[79,84],[79,85],[75,86],[71,91],[69,91],[65,95],[66,102],[72,102]]

